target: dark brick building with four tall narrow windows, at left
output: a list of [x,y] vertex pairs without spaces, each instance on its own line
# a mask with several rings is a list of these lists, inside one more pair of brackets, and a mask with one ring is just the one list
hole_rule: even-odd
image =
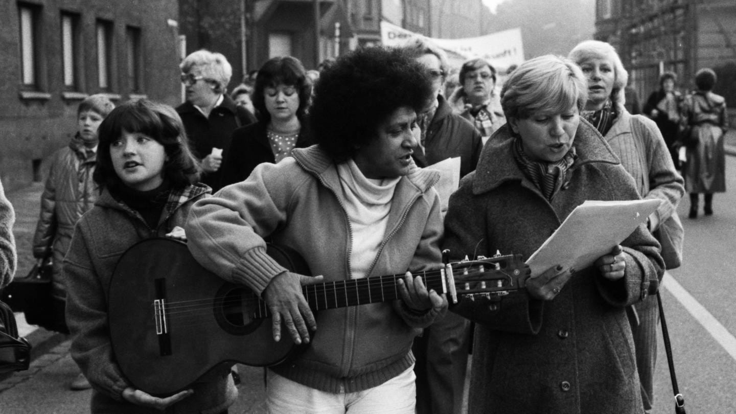
[[177,0],[0,1],[0,177],[7,189],[77,130],[90,94],[180,102]]

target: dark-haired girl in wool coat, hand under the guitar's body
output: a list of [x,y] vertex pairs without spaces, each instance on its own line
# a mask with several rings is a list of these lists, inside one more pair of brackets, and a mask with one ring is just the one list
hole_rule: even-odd
[[236,399],[227,367],[174,396],[135,390],[110,343],[107,289],[118,259],[135,242],[183,226],[192,203],[210,190],[196,183],[199,166],[186,141],[174,109],[144,99],[119,106],[99,127],[93,178],[100,195],[77,223],[63,264],[71,355],[93,386],[92,413],[149,413],[170,406],[176,413],[220,413]]

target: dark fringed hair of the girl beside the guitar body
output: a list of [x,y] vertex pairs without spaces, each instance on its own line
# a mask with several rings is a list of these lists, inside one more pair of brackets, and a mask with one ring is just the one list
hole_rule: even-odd
[[124,186],[110,158],[110,144],[123,132],[143,133],[163,145],[168,158],[163,164],[163,176],[174,189],[183,189],[199,180],[199,163],[191,155],[184,124],[176,110],[169,105],[138,99],[113,109],[99,125],[97,166],[92,178],[100,192],[104,188],[116,192]]

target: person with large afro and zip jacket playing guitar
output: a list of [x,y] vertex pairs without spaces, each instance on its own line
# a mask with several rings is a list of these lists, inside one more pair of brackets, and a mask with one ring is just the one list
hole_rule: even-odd
[[[431,94],[425,69],[405,52],[343,55],[316,84],[317,144],[195,204],[186,228],[194,257],[261,295],[275,341],[309,345],[269,368],[269,413],[414,413],[411,343],[447,308],[408,273],[442,266],[438,173],[411,158],[417,112]],[[266,238],[320,276],[275,262]],[[313,312],[302,294],[304,284],[404,273],[393,301]]]

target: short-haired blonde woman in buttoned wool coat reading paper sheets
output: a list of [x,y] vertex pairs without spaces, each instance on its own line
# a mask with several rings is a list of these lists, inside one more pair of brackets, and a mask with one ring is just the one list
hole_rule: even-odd
[[[502,91],[509,122],[450,198],[443,249],[527,259],[585,200],[639,198],[614,152],[580,119],[586,99],[569,60],[538,57],[512,73]],[[639,413],[625,306],[662,273],[659,243],[640,225],[590,267],[531,275],[526,290],[504,296],[476,324],[469,412]]]

